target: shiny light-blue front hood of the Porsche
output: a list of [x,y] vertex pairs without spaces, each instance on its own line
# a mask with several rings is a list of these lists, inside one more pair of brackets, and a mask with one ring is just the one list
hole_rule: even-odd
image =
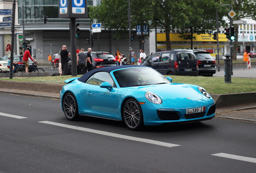
[[168,99],[172,102],[187,102],[202,99],[202,95],[200,95],[198,91],[186,84],[180,83],[149,85],[138,87],[138,89],[155,93],[159,97]]

